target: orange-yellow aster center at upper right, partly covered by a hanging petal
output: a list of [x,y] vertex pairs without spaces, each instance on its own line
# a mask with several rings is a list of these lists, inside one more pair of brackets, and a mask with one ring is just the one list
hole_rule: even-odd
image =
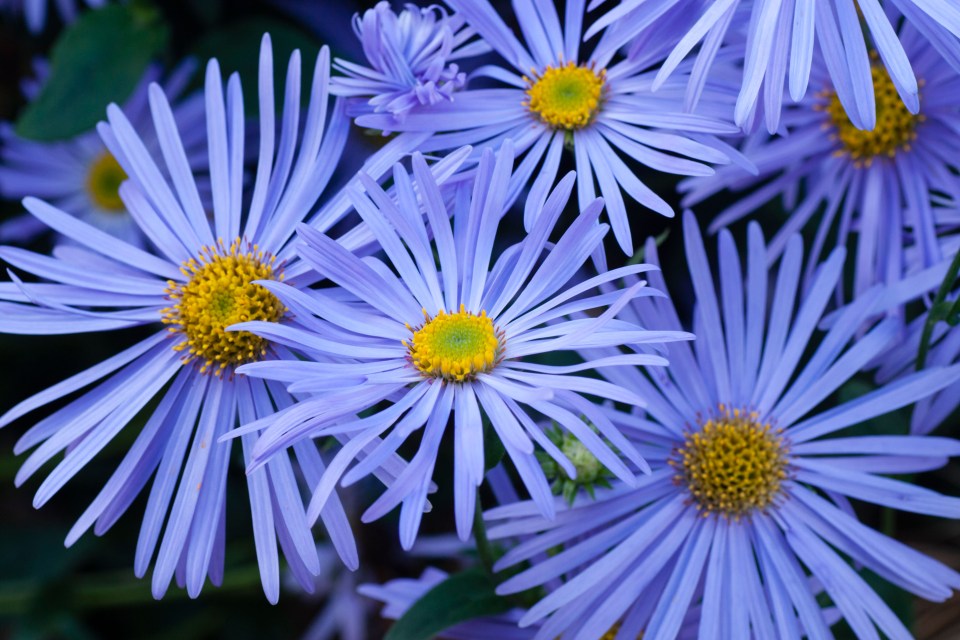
[[877,124],[872,130],[858,129],[850,122],[836,92],[827,94],[829,102],[821,107],[829,114],[842,147],[836,153],[849,154],[857,167],[869,167],[877,157],[892,158],[897,151],[909,151],[917,137],[917,123],[924,120],[922,115],[907,110],[883,65],[874,62],[871,73],[877,105]]

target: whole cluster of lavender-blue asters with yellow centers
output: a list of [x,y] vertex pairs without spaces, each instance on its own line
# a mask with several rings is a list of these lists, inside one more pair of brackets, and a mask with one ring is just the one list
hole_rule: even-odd
[[[29,212],[4,236],[64,241],[0,248],[0,330],[156,329],[0,417],[69,399],[20,439],[17,482],[56,460],[43,505],[146,412],[67,543],[150,485],[135,572],[152,565],[156,597],[174,578],[196,596],[223,578],[238,445],[275,602],[281,551],[305,588],[321,571],[318,520],[359,566],[338,487],[379,479],[362,520],[399,507],[412,547],[451,440],[452,525],[497,541],[497,593],[525,604],[444,637],[828,638],[844,619],[909,638],[858,569],[934,601],[960,574],[851,499],[960,517],[960,498],[888,477],[960,455],[928,435],[960,402],[960,333],[941,324],[917,369],[925,319],[905,311],[960,247],[960,9],[516,0],[505,20],[447,4],[357,16],[365,60],[332,75],[322,50],[302,118],[301,58],[278,116],[265,36],[256,131],[216,60],[202,97],[151,70],[88,136],[3,131],[0,191]],[[351,123],[389,141],[330,188]],[[674,215],[639,167],[685,176],[685,207],[744,193],[710,227],[716,267],[682,215],[692,333],[655,241],[607,267],[634,254],[644,209]],[[771,200],[792,213],[738,247],[725,226]],[[878,387],[837,401],[865,370]],[[845,431],[908,406],[909,434]],[[478,515],[487,485],[499,505]],[[396,617],[444,578],[363,590]]]

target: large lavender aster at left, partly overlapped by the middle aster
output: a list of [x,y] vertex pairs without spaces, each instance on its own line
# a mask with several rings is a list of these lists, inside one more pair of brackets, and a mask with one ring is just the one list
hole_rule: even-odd
[[[211,60],[205,92],[210,217],[201,205],[169,102],[159,86],[151,85],[150,111],[164,169],[116,105],[108,108],[109,124],[101,123],[99,131],[129,176],[120,197],[156,254],[35,198],[24,201],[26,208],[76,246],[61,247],[52,257],[0,249],[0,257],[14,268],[50,281],[26,284],[16,279],[0,285],[0,297],[8,301],[0,303],[0,330],[49,335],[156,328],[147,339],[19,403],[0,417],[0,425],[89,387],[37,422],[17,444],[18,453],[36,447],[17,475],[18,485],[63,454],[37,490],[34,504],[39,507],[118,433],[131,428],[135,416],[144,416],[146,424],[71,529],[67,544],[91,526],[98,534],[109,529],[156,474],[134,568],[143,576],[156,558],[152,583],[157,597],[175,574],[191,596],[208,576],[220,583],[232,446],[217,441],[238,422],[249,423],[293,404],[282,386],[235,375],[241,363],[289,354],[253,334],[224,330],[241,320],[278,326],[292,322],[288,308],[254,281],[296,281],[298,267],[288,240],[327,186],[347,136],[349,119],[342,103],[329,105],[328,51],[322,49],[317,58],[302,135],[299,52],[291,56],[287,71],[285,109],[278,123],[272,51],[265,36],[259,164],[249,200],[242,191],[240,79],[232,75],[224,91],[219,65]],[[368,170],[373,172],[383,159],[387,167],[392,165],[393,153],[388,145],[371,159]],[[313,217],[315,224],[337,219],[329,206]],[[248,433],[240,443],[247,462],[255,439]],[[383,462],[381,477],[392,481],[396,461]],[[279,592],[278,543],[298,578],[305,580],[320,570],[300,482],[313,485],[323,471],[317,449],[299,443],[292,453],[274,456],[246,477],[263,587],[271,601]],[[341,558],[356,567],[356,547],[336,497],[325,504],[321,517]]]

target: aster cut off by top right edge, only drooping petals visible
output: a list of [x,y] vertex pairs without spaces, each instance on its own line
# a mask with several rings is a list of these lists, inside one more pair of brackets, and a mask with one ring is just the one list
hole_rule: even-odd
[[[591,9],[603,1],[594,0]],[[918,108],[918,83],[910,50],[896,33],[901,16],[960,71],[960,7],[928,0],[892,0],[883,7],[878,0],[666,0],[654,11],[644,0],[626,0],[612,6],[587,36],[616,25],[618,37],[608,44],[613,48],[633,38],[646,43],[672,37],[677,44],[658,72],[654,87],[663,84],[700,44],[698,73],[691,78],[692,85],[697,86],[710,73],[721,43],[739,43],[745,37],[735,120],[740,126],[750,122],[762,89],[771,132],[778,129],[784,84],[794,102],[806,95],[816,43],[827,57],[831,82],[838,87],[851,122],[869,130],[874,128],[876,117],[871,70],[876,61],[867,54],[867,34],[907,110],[916,113]]]

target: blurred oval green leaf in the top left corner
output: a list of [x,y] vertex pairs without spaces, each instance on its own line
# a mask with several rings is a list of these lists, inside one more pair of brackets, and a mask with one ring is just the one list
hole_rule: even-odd
[[168,35],[146,3],[85,12],[54,46],[50,76],[20,116],[17,135],[47,142],[90,131],[107,105],[130,96]]

